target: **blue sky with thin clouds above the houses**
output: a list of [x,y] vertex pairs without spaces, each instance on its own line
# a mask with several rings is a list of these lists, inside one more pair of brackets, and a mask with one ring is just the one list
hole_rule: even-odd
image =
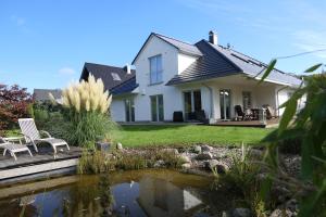
[[[84,62],[130,63],[151,31],[188,42],[218,34],[218,42],[264,62],[326,49],[321,0],[1,0],[0,84],[63,88]],[[280,60],[300,73],[326,63],[326,52]]]

